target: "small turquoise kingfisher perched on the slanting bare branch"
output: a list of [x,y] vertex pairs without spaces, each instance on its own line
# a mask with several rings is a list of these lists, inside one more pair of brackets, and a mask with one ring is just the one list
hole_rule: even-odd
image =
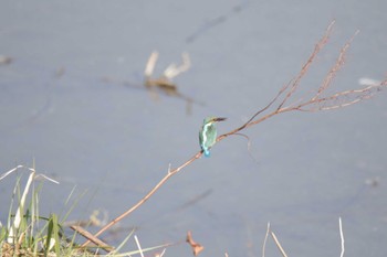
[[226,119],[227,118],[210,116],[203,120],[203,125],[199,132],[199,143],[200,143],[201,150],[205,153],[205,157],[210,156],[210,148],[217,141],[217,128],[215,127],[215,124],[218,121],[223,121]]

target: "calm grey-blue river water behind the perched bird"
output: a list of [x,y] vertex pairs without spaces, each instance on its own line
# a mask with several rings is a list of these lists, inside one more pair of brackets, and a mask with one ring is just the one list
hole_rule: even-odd
[[[302,83],[316,89],[339,49],[359,30],[332,92],[387,75],[384,1],[2,1],[0,163],[34,165],[44,183],[41,213],[69,219],[100,210],[114,218],[198,150],[202,119],[228,117],[227,132],[293,78],[336,20]],[[187,52],[174,82],[184,96],[142,85],[153,51],[157,77]],[[386,256],[386,92],[321,113],[273,117],[218,143],[171,178],[103,239],[137,227],[143,247],[185,239],[202,256],[261,256],[268,222],[290,256]],[[21,171],[22,172],[22,171]],[[21,173],[19,173],[21,174]],[[27,178],[27,173],[23,173]],[[18,174],[0,181],[6,223]],[[23,181],[23,180],[22,180]],[[70,202],[72,202],[70,201]],[[126,249],[135,249],[129,239]],[[166,256],[190,256],[187,244]],[[266,255],[281,256],[269,238]]]

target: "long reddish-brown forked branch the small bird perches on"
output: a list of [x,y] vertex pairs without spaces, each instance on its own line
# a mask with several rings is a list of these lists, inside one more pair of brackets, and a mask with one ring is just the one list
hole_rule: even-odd
[[[323,83],[318,87],[318,89],[306,100],[301,98],[297,100],[294,100],[293,103],[290,103],[290,98],[293,96],[293,94],[299,89],[301,79],[305,76],[305,74],[308,72],[314,58],[317,56],[317,54],[321,52],[321,50],[326,45],[330,35],[333,30],[334,21],[327,26],[323,38],[316,43],[314,51],[312,52],[311,56],[306,61],[306,63],[302,66],[300,73],[297,76],[292,79],[289,84],[284,85],[280,92],[276,94],[276,96],[263,108],[257,111],[247,122],[244,122],[241,127],[231,130],[230,132],[223,133],[217,138],[217,142],[220,140],[223,140],[224,138],[229,136],[237,135],[239,131],[247,129],[251,126],[254,126],[257,124],[260,124],[275,115],[287,113],[292,110],[300,110],[300,111],[317,111],[317,110],[330,110],[335,108],[342,108],[346,107],[356,103],[359,103],[364,99],[369,99],[373,97],[377,92],[381,90],[383,88],[387,87],[387,79],[381,82],[380,84],[376,85],[368,85],[364,88],[359,89],[352,89],[352,90],[344,90],[339,92],[333,95],[324,96],[324,93],[326,89],[332,85],[333,78],[337,74],[337,72],[343,67],[346,52],[354,39],[354,36],[358,33],[356,32],[355,35],[346,42],[346,44],[342,47],[338,57],[335,62],[335,64],[332,66],[327,75],[325,76]],[[282,100],[280,98],[284,96]],[[279,103],[278,107],[274,108],[271,113],[268,113],[263,115],[264,111],[269,110],[270,107],[274,103]],[[263,115],[263,116],[260,116]],[[186,161],[184,164],[176,169],[169,169],[167,174],[142,199],[139,200],[135,205],[133,205],[129,210],[124,212],[118,217],[114,218],[111,223],[108,223],[106,226],[104,226],[100,232],[95,234],[95,236],[101,235],[105,231],[107,231],[109,227],[112,227],[114,224],[123,219],[124,217],[128,216],[132,212],[134,212],[136,208],[138,208],[140,205],[143,205],[154,193],[158,191],[158,189],[161,188],[164,183],[167,182],[172,175],[178,173],[180,170],[189,165],[195,160],[199,159],[201,157],[202,152],[196,153],[194,157],[191,157],[188,161]],[[85,247],[90,240],[83,244]]]

